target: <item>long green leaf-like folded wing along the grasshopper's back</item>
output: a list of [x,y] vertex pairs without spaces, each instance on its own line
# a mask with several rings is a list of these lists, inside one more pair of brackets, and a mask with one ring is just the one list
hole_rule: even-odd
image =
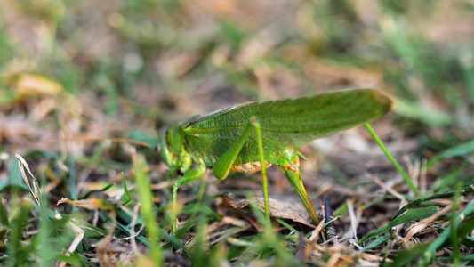
[[[253,101],[195,117],[183,125],[185,148],[213,163],[237,142],[252,116],[258,118],[266,157],[372,121],[390,110],[388,97],[358,89],[277,101]],[[258,159],[254,133],[236,164]]]

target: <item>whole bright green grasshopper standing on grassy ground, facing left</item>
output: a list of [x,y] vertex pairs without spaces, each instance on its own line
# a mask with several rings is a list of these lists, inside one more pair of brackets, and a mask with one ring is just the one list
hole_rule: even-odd
[[200,179],[207,168],[212,168],[218,179],[225,179],[230,171],[261,171],[269,220],[265,169],[276,164],[298,193],[313,223],[318,224],[319,218],[301,182],[299,158],[304,156],[298,148],[317,138],[373,121],[390,107],[390,99],[381,93],[358,89],[247,102],[190,117],[169,128],[161,136],[159,150],[171,171],[183,174],[173,185],[173,234],[178,189]]

